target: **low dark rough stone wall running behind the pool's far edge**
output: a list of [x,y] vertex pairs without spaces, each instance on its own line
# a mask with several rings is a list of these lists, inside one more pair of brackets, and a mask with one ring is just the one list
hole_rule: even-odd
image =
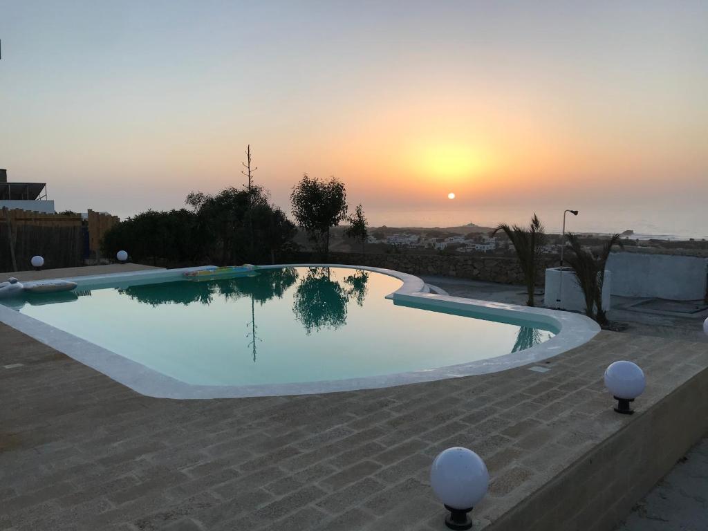
[[[303,261],[315,261],[302,253]],[[411,275],[445,275],[449,277],[523,284],[524,275],[516,258],[506,256],[455,256],[406,253],[329,253],[330,263],[369,265],[411,273]],[[555,261],[542,263],[537,285],[543,285],[547,267],[558,265]]]

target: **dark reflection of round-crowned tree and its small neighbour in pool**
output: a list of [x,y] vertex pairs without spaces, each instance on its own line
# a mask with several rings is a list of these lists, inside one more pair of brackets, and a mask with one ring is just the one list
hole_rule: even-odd
[[358,271],[339,282],[330,268],[310,268],[295,290],[292,312],[309,335],[313,330],[333,329],[346,324],[350,299],[362,306],[369,273]]

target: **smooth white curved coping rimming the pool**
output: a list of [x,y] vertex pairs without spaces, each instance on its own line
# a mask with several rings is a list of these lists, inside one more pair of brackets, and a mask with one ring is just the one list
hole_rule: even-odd
[[[101,346],[74,336],[71,333],[50,326],[38,319],[21,314],[0,304],[0,322],[12,326],[40,343],[68,355],[74,360],[88,365],[98,372],[120,382],[135,392],[156,398],[170,399],[212,399],[212,398],[243,398],[246,396],[284,396],[292,394],[319,394],[329,392],[354,391],[357,389],[376,389],[396,385],[431,382],[433,380],[457,378],[462,376],[483,375],[491,372],[539,362],[552,356],[566,352],[587,343],[599,331],[595,321],[580,314],[559,312],[557,310],[489,302],[463,297],[450,297],[430,293],[425,282],[420,278],[384,268],[372,268],[363,265],[343,265],[326,263],[294,263],[258,266],[259,269],[297,267],[332,267],[353,268],[373,273],[382,273],[403,281],[403,285],[390,295],[388,299],[409,304],[425,304],[426,309],[439,307],[441,310],[464,310],[478,312],[489,316],[490,320],[515,319],[535,321],[556,329],[556,336],[532,348],[515,353],[501,355],[487,360],[478,360],[459,365],[449,365],[433,369],[412,372],[399,372],[390,375],[370,376],[362,378],[326,380],[317,382],[258,384],[258,385],[193,385],[166,376],[139,362],[124,358],[122,355],[107,350]],[[126,273],[110,273],[106,275],[90,275],[84,277],[66,278],[76,282],[77,290],[82,286],[111,287],[122,282],[131,285],[153,282],[169,282],[180,280],[186,271],[215,268],[206,266],[200,268],[160,269],[131,271]],[[40,282],[40,281],[37,281]],[[34,282],[24,282],[33,285]],[[423,310],[421,310],[423,311]],[[382,347],[383,348],[383,347]]]

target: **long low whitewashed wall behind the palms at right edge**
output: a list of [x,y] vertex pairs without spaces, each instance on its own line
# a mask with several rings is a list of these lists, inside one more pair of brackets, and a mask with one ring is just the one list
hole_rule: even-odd
[[659,297],[671,300],[703,299],[707,258],[663,254],[612,253],[612,295]]

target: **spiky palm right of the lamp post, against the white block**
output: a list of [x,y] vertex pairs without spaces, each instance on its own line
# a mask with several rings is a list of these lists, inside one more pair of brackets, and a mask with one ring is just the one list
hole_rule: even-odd
[[598,256],[592,251],[583,249],[577,234],[569,232],[568,241],[571,244],[573,255],[569,256],[568,263],[576,274],[578,286],[585,296],[585,313],[590,319],[595,319],[599,324],[607,324],[607,315],[603,310],[603,285],[605,284],[605,264],[610,258],[610,251],[615,245],[622,247],[619,234],[612,234],[605,241]]

